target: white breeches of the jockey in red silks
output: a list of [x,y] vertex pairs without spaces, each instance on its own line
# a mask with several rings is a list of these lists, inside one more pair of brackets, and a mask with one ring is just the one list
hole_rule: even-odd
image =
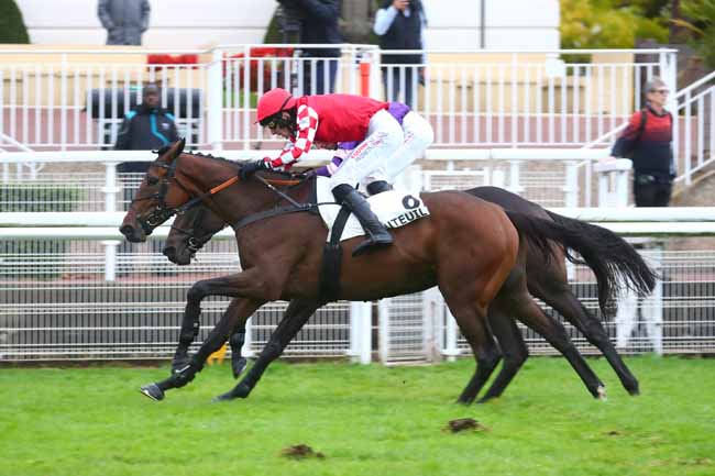
[[361,182],[387,180],[386,166],[403,142],[399,122],[386,110],[377,111],[370,120],[365,140],[345,157],[330,178],[331,188],[341,184],[356,187]]

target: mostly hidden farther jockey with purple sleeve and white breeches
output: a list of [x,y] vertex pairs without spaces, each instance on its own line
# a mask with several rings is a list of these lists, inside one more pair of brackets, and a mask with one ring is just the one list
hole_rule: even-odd
[[[404,141],[397,151],[384,164],[386,180],[373,181],[367,184],[365,189],[370,195],[377,195],[386,190],[392,190],[392,185],[399,174],[409,167],[417,158],[425,154],[425,151],[435,140],[435,132],[429,122],[427,122],[417,112],[409,109],[409,106],[402,102],[391,102],[387,111],[403,126]],[[332,160],[327,165],[318,167],[314,174],[322,177],[332,176],[345,156],[360,145],[359,142],[339,142],[339,143],[316,143],[321,148],[338,150]],[[362,184],[361,184],[362,185]]]

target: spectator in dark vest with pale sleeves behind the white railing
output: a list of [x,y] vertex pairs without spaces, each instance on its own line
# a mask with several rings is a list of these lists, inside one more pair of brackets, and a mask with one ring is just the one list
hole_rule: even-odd
[[[424,49],[422,30],[427,25],[427,16],[420,0],[385,0],[383,8],[375,14],[373,31],[380,36],[382,49]],[[417,81],[421,82],[421,53],[383,55],[383,84],[388,101],[399,100],[402,85],[405,85],[405,103],[414,104],[414,89]],[[394,66],[399,65],[399,66]]]

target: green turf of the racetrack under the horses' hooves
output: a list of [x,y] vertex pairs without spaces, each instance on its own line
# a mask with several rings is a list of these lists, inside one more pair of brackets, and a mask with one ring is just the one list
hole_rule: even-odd
[[[112,475],[713,475],[715,359],[627,361],[629,397],[590,397],[561,358],[532,358],[497,401],[453,401],[471,361],[425,367],[272,366],[248,400],[210,403],[227,366],[154,402],[162,368],[0,369],[1,476]],[[455,418],[488,431],[442,431]],[[287,460],[305,443],[323,460]]]

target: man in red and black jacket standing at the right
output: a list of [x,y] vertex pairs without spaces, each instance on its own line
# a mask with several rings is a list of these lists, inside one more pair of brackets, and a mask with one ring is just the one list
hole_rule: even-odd
[[646,82],[644,90],[646,107],[631,115],[610,158],[632,160],[636,207],[668,207],[675,177],[673,117],[664,108],[670,91],[657,77]]

